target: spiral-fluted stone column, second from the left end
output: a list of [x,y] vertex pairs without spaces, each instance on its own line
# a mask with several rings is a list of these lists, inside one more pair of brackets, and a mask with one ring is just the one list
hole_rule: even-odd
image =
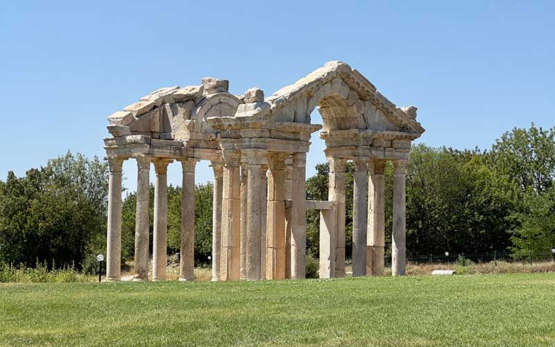
[[148,280],[148,236],[151,228],[151,158],[137,158],[137,210],[135,210],[135,274],[133,280]]

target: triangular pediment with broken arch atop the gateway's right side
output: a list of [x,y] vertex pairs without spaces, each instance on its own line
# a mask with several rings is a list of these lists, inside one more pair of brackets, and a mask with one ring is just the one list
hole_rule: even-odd
[[265,100],[271,121],[310,123],[314,108],[324,130],[368,129],[422,134],[416,108],[398,108],[359,71],[341,61],[327,62]]

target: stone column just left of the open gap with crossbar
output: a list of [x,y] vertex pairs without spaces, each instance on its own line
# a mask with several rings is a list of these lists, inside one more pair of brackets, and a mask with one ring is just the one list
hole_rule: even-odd
[[306,277],[307,253],[307,154],[293,154],[291,198],[291,278]]

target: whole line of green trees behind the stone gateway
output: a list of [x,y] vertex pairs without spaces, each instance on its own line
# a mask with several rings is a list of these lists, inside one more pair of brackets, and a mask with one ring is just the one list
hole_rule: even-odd
[[[407,255],[511,251],[548,258],[555,247],[555,128],[514,128],[487,150],[413,146],[407,167]],[[345,243],[352,248],[352,163],[347,165]],[[327,200],[327,164],[307,198]],[[391,242],[393,167],[385,171]],[[151,187],[151,235],[153,230]],[[180,248],[180,187],[168,187],[168,252]],[[25,176],[0,180],[0,262],[96,269],[105,253],[108,165],[67,153]],[[133,257],[135,201],[126,192],[122,258]],[[212,253],[212,184],[196,185],[195,261]],[[307,211],[307,253],[318,257],[318,212]],[[152,244],[152,243],[151,243]],[[386,247],[387,249],[387,247]]]

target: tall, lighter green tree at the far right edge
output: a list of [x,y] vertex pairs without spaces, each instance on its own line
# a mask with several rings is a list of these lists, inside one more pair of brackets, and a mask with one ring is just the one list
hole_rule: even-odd
[[495,142],[490,160],[513,196],[515,255],[549,256],[555,246],[555,128],[514,128]]

